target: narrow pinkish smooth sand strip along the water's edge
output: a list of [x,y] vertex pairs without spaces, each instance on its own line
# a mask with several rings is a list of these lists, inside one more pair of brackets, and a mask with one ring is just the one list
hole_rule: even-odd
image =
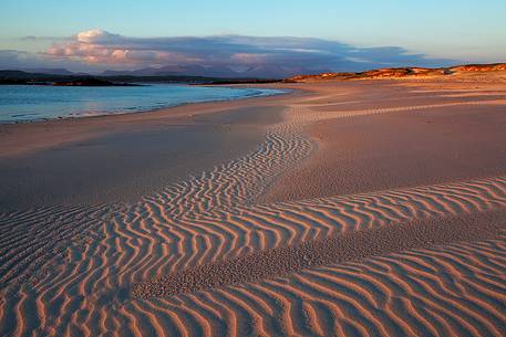
[[[238,85],[239,87],[249,87]],[[254,85],[258,87],[261,85]],[[234,87],[234,86],[231,86]],[[290,89],[289,85],[266,88]],[[156,123],[188,123],[188,118],[203,114],[211,114],[227,108],[249,105],[276,104],[275,101],[290,99],[303,95],[302,91],[286,94],[242,97],[239,99],[187,103],[166,108],[151,109],[142,113],[86,116],[83,118],[61,118],[34,120],[28,123],[0,124],[0,158],[30,154],[72,141],[83,141],[107,134],[155,127]]]

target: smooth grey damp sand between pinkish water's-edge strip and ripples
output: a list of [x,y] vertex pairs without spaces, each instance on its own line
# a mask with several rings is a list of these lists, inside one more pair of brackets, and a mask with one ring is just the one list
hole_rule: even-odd
[[95,130],[87,139],[0,156],[0,204],[23,210],[136,201],[252,151],[266,126],[280,120],[282,109],[247,107],[184,120],[167,117],[156,125],[117,128],[111,135]]

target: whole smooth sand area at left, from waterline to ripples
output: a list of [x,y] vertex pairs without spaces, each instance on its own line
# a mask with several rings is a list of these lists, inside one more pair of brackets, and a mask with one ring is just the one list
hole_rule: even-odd
[[136,202],[257,150],[281,96],[0,127],[0,204]]

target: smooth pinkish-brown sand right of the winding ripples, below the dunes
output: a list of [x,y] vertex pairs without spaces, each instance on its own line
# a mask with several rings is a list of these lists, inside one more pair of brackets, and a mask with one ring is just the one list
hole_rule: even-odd
[[326,94],[311,102],[321,115],[306,131],[319,150],[279,181],[269,202],[506,173],[506,84],[473,84],[468,92],[467,83],[436,92],[386,81],[324,86],[351,88],[353,99]]

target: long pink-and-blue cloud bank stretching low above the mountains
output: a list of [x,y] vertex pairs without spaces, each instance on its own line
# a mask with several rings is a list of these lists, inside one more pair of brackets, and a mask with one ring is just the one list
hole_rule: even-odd
[[[199,66],[262,76],[453,63],[413,54],[399,46],[358,48],[321,39],[245,35],[132,38],[103,30],[83,31],[54,41],[47,51],[32,56],[39,63],[60,63],[83,70]],[[23,55],[20,53],[17,57],[21,62]],[[0,53],[0,65],[2,62]]]

